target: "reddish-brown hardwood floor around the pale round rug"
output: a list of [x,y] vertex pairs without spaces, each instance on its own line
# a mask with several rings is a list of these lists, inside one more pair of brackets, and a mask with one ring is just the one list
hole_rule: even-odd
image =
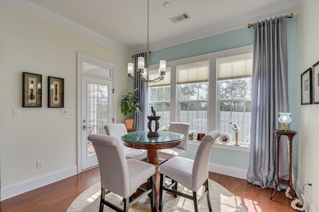
[[[234,194],[249,212],[297,212],[290,207],[291,200],[286,198],[284,191],[277,192],[271,201],[271,189],[262,189],[246,180],[212,172],[209,178]],[[93,168],[4,200],[0,202],[0,212],[65,212],[78,195],[99,181],[99,168]]]

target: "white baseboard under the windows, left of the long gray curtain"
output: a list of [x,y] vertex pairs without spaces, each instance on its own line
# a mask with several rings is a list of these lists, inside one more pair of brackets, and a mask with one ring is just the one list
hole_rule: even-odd
[[241,169],[241,168],[236,168],[236,167],[226,166],[226,165],[220,165],[220,164],[216,164],[216,163],[210,163],[209,164],[209,171],[247,180],[247,170],[246,169]]

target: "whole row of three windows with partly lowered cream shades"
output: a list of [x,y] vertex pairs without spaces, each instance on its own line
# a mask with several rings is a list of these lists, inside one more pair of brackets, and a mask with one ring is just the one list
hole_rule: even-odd
[[[195,138],[213,130],[234,138],[229,124],[233,121],[240,127],[239,141],[249,142],[252,49],[246,46],[167,62],[169,82],[149,83],[149,107],[162,117],[160,126],[185,122],[196,132]],[[151,66],[152,78],[158,75],[158,67]]]

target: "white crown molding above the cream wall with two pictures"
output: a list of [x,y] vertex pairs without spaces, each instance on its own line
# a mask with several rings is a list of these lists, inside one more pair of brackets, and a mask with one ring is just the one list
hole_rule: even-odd
[[20,9],[31,15],[35,15],[41,19],[59,25],[63,28],[71,30],[77,34],[90,38],[94,41],[102,43],[110,48],[118,50],[120,52],[129,53],[129,48],[120,43],[117,43],[105,36],[102,36],[64,16],[61,16],[55,12],[52,12],[42,6],[39,6],[29,0],[1,0],[1,2],[12,6],[16,9]]

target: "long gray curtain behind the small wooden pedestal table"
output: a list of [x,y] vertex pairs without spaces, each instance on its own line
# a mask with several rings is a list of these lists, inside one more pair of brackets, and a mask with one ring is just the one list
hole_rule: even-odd
[[[288,110],[286,18],[254,23],[249,183],[273,188],[276,180],[276,140],[279,112]],[[280,178],[289,178],[287,139],[281,137]],[[281,189],[281,188],[279,188]]]

